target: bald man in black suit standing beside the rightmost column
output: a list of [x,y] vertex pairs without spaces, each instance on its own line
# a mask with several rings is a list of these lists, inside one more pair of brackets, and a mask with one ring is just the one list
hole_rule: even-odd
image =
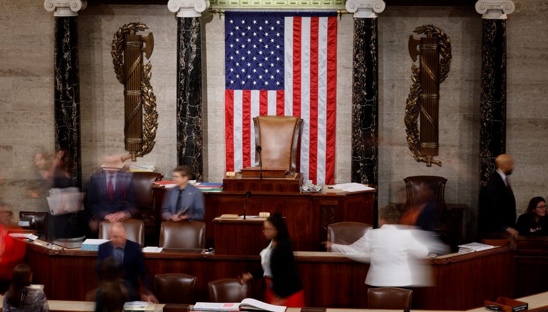
[[496,171],[479,191],[478,232],[481,238],[517,236],[516,199],[508,181],[514,168],[513,158],[501,154],[495,158]]

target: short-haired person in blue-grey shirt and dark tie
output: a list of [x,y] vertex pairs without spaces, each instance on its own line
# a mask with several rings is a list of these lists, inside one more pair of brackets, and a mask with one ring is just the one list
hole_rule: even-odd
[[196,186],[189,184],[191,177],[192,171],[187,166],[179,166],[173,170],[176,186],[165,192],[162,203],[163,220],[179,222],[204,219],[204,195]]

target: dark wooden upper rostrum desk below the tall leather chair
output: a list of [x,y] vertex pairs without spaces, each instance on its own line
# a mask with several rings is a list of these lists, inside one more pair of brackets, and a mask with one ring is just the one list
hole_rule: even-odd
[[[153,186],[154,210],[157,220],[165,188]],[[243,214],[246,192],[204,192],[206,197],[206,247],[213,247],[215,227],[213,219],[221,214]],[[298,192],[253,192],[246,207],[248,215],[279,211],[287,217],[289,234],[295,250],[323,251],[320,244],[327,240],[327,226],[336,222],[354,221],[374,224],[375,190],[361,192],[326,192],[321,194]],[[159,233],[160,224],[157,229]],[[255,240],[256,237],[249,237]],[[251,242],[244,242],[248,246]]]

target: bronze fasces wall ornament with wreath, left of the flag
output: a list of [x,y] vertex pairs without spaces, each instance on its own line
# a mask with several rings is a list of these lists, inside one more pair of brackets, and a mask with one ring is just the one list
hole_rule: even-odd
[[143,65],[144,53],[150,59],[154,48],[152,32],[146,36],[138,31],[149,29],[145,24],[132,22],[120,27],[112,40],[112,63],[118,81],[124,85],[124,145],[130,154],[122,161],[142,157],[156,144],[158,112],[156,95],[150,84],[150,61]]

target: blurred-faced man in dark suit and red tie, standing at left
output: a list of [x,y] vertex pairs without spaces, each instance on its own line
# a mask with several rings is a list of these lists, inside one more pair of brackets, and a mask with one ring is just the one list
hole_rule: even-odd
[[107,157],[102,171],[92,175],[87,192],[87,205],[92,214],[89,226],[93,233],[102,220],[122,222],[132,217],[136,207],[133,175],[119,171],[118,156]]

